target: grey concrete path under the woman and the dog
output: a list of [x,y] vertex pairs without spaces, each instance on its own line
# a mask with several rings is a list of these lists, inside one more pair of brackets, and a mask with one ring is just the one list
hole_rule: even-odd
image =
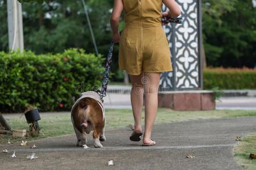
[[[0,164],[5,169],[240,169],[233,159],[236,136],[256,132],[256,117],[223,118],[155,125],[156,146],[142,147],[129,141],[128,128],[106,131],[103,148],[93,148],[90,139],[83,150],[75,146],[75,136],[41,139],[30,146],[2,145]],[[9,156],[16,151],[17,158]],[[39,159],[28,160],[35,152]],[[194,155],[187,159],[186,155]],[[108,159],[115,165],[108,167]]]

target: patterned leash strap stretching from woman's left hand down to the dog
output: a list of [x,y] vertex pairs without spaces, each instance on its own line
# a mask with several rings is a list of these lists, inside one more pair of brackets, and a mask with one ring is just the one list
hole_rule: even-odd
[[110,43],[110,49],[108,50],[105,74],[104,74],[103,83],[102,83],[102,90],[100,91],[100,94],[99,94],[100,99],[105,97],[106,93],[107,93],[107,83],[108,83],[108,78],[110,77],[110,66],[111,66],[111,62],[112,62],[114,44],[115,44],[115,42],[112,41]]

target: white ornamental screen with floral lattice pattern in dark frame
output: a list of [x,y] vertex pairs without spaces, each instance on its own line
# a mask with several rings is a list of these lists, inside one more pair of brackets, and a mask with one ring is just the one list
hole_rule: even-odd
[[[162,73],[161,91],[202,89],[201,1],[177,0],[183,24],[164,26],[170,41],[173,71]],[[163,6],[163,11],[166,7]]]

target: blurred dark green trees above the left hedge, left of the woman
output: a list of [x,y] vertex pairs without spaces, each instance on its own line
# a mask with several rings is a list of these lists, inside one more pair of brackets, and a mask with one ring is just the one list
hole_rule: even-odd
[[[24,1],[25,2],[25,1]],[[108,1],[86,1],[95,40],[101,54],[107,54],[111,41]],[[7,3],[0,0],[0,50],[8,51]],[[36,54],[62,53],[68,48],[83,48],[94,53],[94,45],[81,1],[23,3],[25,48]]]

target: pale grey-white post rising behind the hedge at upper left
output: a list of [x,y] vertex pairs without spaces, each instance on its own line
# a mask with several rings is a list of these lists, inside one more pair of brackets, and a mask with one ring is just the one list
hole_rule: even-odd
[[23,51],[22,5],[17,0],[7,0],[9,49]]

